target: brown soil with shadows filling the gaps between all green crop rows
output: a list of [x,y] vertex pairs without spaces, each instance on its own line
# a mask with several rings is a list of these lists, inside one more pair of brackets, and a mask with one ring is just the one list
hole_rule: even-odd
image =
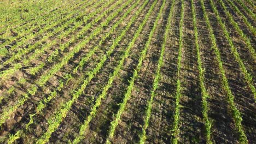
[[[255,47],[256,38],[253,33],[249,31],[246,24],[242,21],[235,11],[231,9],[231,6],[223,0],[230,13],[234,16],[234,20],[238,23],[238,26],[242,29],[243,33],[250,39],[252,46]],[[117,22],[121,16],[127,11],[133,3],[125,7],[117,17],[110,21],[107,27],[103,28],[103,32],[93,38],[82,50],[75,54],[69,62],[61,68],[51,79],[46,82],[43,87],[39,87],[36,94],[31,96],[24,105],[20,106],[18,110],[11,113],[10,118],[0,128],[0,143],[7,143],[9,135],[15,134],[18,130],[24,130],[24,134],[15,143],[35,143],[48,129],[48,121],[53,117],[61,105],[72,99],[72,93],[75,89],[82,85],[83,81],[88,77],[88,72],[93,70],[101,57],[106,54],[106,51],[113,44],[113,41],[120,35],[121,31],[126,27],[131,17],[141,7],[142,2],[135,7],[132,12],[127,15],[124,21],[118,26],[113,34],[109,35],[100,49],[89,59],[89,61],[80,68],[77,73],[73,73],[73,69],[77,67],[79,61],[86,56],[95,46],[98,45],[102,36],[109,32],[110,28]],[[103,64],[101,70],[95,75],[86,87],[85,91],[78,98],[78,100],[72,105],[71,110],[67,113],[67,116],[63,119],[56,131],[51,134],[49,143],[68,143],[72,142],[78,135],[79,129],[84,121],[90,115],[92,106],[95,104],[95,100],[102,93],[102,89],[107,85],[110,74],[113,73],[114,68],[117,67],[121,56],[123,56],[129,42],[133,39],[139,25],[144,19],[144,16],[148,13],[150,6],[154,1],[149,1],[146,7],[139,14],[138,18],[127,31],[126,35],[121,39],[119,45],[115,48],[114,52]],[[98,107],[96,116],[89,124],[89,129],[86,131],[85,139],[81,143],[105,143],[108,137],[108,131],[110,123],[114,120],[115,114],[119,110],[119,104],[123,102],[124,94],[126,93],[129,81],[133,76],[134,69],[138,64],[138,59],[141,51],[144,49],[149,33],[153,28],[156,16],[161,7],[163,1],[158,1],[150,15],[149,20],[143,27],[143,31],[136,40],[135,45],[132,47],[130,56],[125,59],[125,63],[119,71],[118,77],[115,77],[112,86],[108,89],[106,99],[102,99],[102,104]],[[114,2],[115,3],[115,2]],[[138,77],[135,80],[135,85],[132,89],[132,94],[127,102],[126,109],[121,115],[121,120],[117,126],[114,139],[112,143],[138,143],[139,135],[141,135],[144,125],[144,119],[146,118],[146,109],[148,100],[150,99],[150,93],[153,88],[153,82],[155,78],[156,68],[161,52],[162,39],[164,37],[165,28],[167,25],[167,17],[170,12],[172,1],[166,1],[165,7],[162,11],[160,22],[156,27],[153,34],[153,39],[150,43],[147,56],[143,60],[142,68],[138,73]],[[207,92],[210,94],[210,98],[207,99],[209,110],[208,115],[212,122],[211,137],[213,143],[238,143],[238,135],[235,129],[234,119],[232,119],[230,107],[227,101],[226,93],[222,86],[222,77],[219,72],[217,58],[214,50],[211,49],[211,40],[209,38],[209,31],[206,26],[205,19],[201,8],[200,1],[195,1],[196,8],[196,20],[197,28],[199,31],[199,46],[202,67],[204,69],[204,82]],[[245,67],[248,72],[253,76],[254,86],[256,83],[256,63],[251,54],[249,53],[245,41],[238,35],[235,28],[232,27],[225,15],[223,8],[218,2],[214,2],[217,5],[220,17],[226,25],[230,33],[230,37],[236,47],[241,59],[245,63]],[[255,25],[256,21],[249,16],[249,14],[242,9],[240,4],[234,2],[234,4],[242,11],[247,17],[248,21]],[[254,9],[249,3],[245,3],[249,9]],[[104,10],[109,8],[106,7]],[[119,4],[117,8],[121,7],[123,3]],[[98,8],[101,5],[98,6]],[[179,48],[179,21],[181,19],[181,1],[176,1],[174,4],[174,13],[171,20],[171,30],[169,37],[166,41],[164,64],[161,67],[161,78],[159,81],[159,87],[156,89],[156,96],[152,105],[152,113],[150,115],[149,126],[146,130],[146,143],[171,143],[174,136],[177,136],[179,143],[206,143],[206,131],[202,116],[202,97],[201,88],[199,82],[199,70],[197,68],[197,55],[195,47],[194,27],[193,27],[193,14],[191,10],[191,1],[184,0],[184,24],[183,24],[183,47],[182,47],[182,64],[181,64],[181,99],[180,99],[180,116],[179,116],[179,134],[173,135],[173,120],[175,112],[176,101],[176,82],[177,82],[177,61],[178,61],[178,48]],[[214,35],[217,40],[217,47],[220,51],[220,55],[223,61],[223,67],[226,77],[229,81],[229,87],[234,95],[235,105],[242,114],[242,125],[245,130],[249,143],[255,143],[255,121],[256,121],[256,107],[254,103],[254,95],[251,89],[248,88],[244,75],[236,62],[234,55],[230,50],[230,45],[225,38],[225,35],[219,26],[216,15],[214,15],[212,7],[209,1],[205,1],[205,7],[211,26],[213,27]],[[117,8],[109,12],[114,13]],[[88,9],[88,13],[95,11],[95,9]],[[96,16],[100,15],[98,13]],[[3,110],[8,109],[10,106],[14,106],[18,99],[22,97],[22,94],[27,93],[35,81],[40,76],[49,73],[49,70],[54,64],[60,63],[61,59],[68,55],[68,53],[77,45],[80,41],[89,37],[89,34],[93,32],[100,23],[107,19],[108,15],[104,16],[100,21],[93,25],[83,35],[83,38],[75,40],[71,43],[65,51],[59,51],[59,55],[54,57],[52,62],[48,62],[48,56],[59,49],[61,44],[71,40],[73,35],[77,34],[86,24],[92,21],[90,19],[87,23],[80,26],[73,31],[68,37],[63,40],[57,40],[57,44],[50,47],[49,50],[44,51],[37,59],[34,59],[27,65],[22,65],[22,68],[18,70],[10,79],[0,79],[0,95],[4,95],[4,99],[0,101],[0,115]],[[86,15],[86,14],[85,14]],[[65,16],[65,15],[63,15]],[[96,17],[95,16],[95,17]],[[55,28],[61,26],[61,23]],[[67,31],[74,25],[65,28]],[[44,26],[42,26],[44,27]],[[15,28],[14,28],[15,30]],[[35,30],[34,32],[36,32]],[[50,29],[48,32],[53,31]],[[61,32],[60,32],[61,33]],[[44,44],[51,43],[51,41],[58,39],[60,33],[54,34],[42,45],[38,45],[37,49],[40,49]],[[28,45],[35,44],[46,33],[39,35],[39,37],[33,38],[19,49],[27,49]],[[14,35],[15,36],[15,35]],[[21,39],[18,39],[19,41]],[[0,41],[4,43],[4,40]],[[15,41],[12,41],[7,46],[11,47],[16,45]],[[18,50],[18,49],[17,49]],[[13,51],[16,52],[16,51]],[[24,58],[32,56],[34,51],[28,53]],[[7,61],[10,55],[1,57],[0,62]],[[11,64],[6,65],[0,70],[8,70],[13,67],[15,63],[21,63],[22,59],[17,60]],[[36,67],[40,62],[44,62],[45,66],[39,70],[36,75],[30,75],[28,69]],[[43,114],[34,116],[34,122],[30,125],[29,129],[25,129],[25,125],[30,121],[30,114],[36,112],[36,106],[43,98],[49,97],[49,94],[54,91],[61,83],[59,81],[66,82],[65,75],[71,74],[73,79],[69,81],[65,86],[58,91],[57,96],[47,104],[47,107],[43,110]],[[20,80],[25,79],[25,82]],[[19,82],[18,82],[19,81]],[[13,88],[13,91],[9,92]]]

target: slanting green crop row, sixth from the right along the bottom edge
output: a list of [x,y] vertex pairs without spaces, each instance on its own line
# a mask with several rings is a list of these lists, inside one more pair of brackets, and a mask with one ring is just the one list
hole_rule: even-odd
[[[146,5],[148,1],[145,1],[143,5]],[[156,3],[156,1],[155,1]],[[90,115],[85,119],[84,124],[82,125],[82,127],[80,128],[79,131],[79,136],[77,136],[75,138],[75,140],[73,141],[73,143],[79,143],[82,139],[84,139],[85,136],[85,132],[88,129],[89,123],[91,122],[92,118],[95,117],[96,113],[97,113],[97,108],[98,106],[101,105],[101,100],[106,98],[107,95],[107,91],[108,89],[112,86],[112,83],[115,79],[115,77],[117,77],[119,75],[119,71],[121,70],[121,68],[123,67],[123,64],[125,62],[125,59],[129,56],[130,53],[130,49],[134,46],[135,41],[137,40],[137,38],[139,37],[139,34],[142,32],[142,29],[144,27],[144,25],[146,24],[146,22],[148,21],[148,17],[149,15],[152,13],[152,10],[154,8],[155,3],[152,5],[152,7],[150,7],[150,10],[148,11],[148,14],[144,17],[143,22],[141,23],[141,25],[139,26],[139,28],[137,29],[135,35],[133,36],[132,41],[129,43],[129,46],[127,47],[127,49],[124,52],[124,55],[122,56],[121,60],[119,61],[117,67],[115,67],[114,71],[112,74],[109,75],[109,80],[106,86],[104,86],[103,91],[101,93],[101,95],[96,99],[95,105],[92,107],[92,110],[90,112]],[[142,10],[142,9],[141,9]],[[136,15],[138,15],[139,13],[137,13]],[[134,21],[134,20],[133,20]],[[132,21],[131,21],[132,22]]]

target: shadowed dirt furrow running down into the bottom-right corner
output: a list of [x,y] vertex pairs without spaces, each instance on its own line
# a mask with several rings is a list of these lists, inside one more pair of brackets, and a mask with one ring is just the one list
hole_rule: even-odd
[[[214,34],[216,35],[217,45],[219,47],[220,55],[222,56],[223,66],[226,71],[226,77],[229,81],[229,86],[234,94],[234,101],[238,110],[242,113],[242,124],[245,129],[247,139],[253,141],[253,121],[255,121],[255,104],[253,94],[248,89],[244,75],[241,73],[238,63],[235,61],[234,55],[230,50],[228,41],[225,39],[223,32],[219,29],[216,16],[212,12],[210,3],[206,3],[207,11],[210,11],[210,20]],[[229,109],[228,109],[229,110]],[[231,113],[230,113],[231,114]],[[231,116],[231,115],[230,115]]]

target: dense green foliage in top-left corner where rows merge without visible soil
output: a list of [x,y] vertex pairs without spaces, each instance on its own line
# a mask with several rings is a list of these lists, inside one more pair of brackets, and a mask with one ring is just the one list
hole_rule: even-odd
[[[53,3],[48,1],[43,5],[36,5],[35,3],[26,4],[27,2],[22,2],[19,3],[19,6],[17,5],[14,8],[11,8],[10,5],[5,4],[5,7],[6,5],[8,5],[8,9],[6,9],[4,14],[1,15],[3,20],[1,21],[2,26],[0,27],[2,28],[0,30],[0,33],[8,30],[13,31],[14,28],[17,28],[17,30],[19,30],[21,26],[32,26],[31,24],[36,23],[37,19],[40,19],[42,17],[51,17],[51,15],[54,14],[53,12],[55,12],[56,10],[64,10],[66,9],[66,7],[71,7],[72,4],[78,4],[77,2],[61,3],[61,1],[58,1],[56,3]],[[4,11],[4,9],[2,11]],[[5,32],[5,35],[8,35],[8,33]],[[4,34],[1,35],[1,38],[3,38],[3,36]]]

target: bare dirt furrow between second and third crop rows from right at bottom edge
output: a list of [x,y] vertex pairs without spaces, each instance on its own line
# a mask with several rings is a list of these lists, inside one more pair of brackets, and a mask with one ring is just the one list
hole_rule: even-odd
[[205,143],[191,3],[184,2],[179,142]]

